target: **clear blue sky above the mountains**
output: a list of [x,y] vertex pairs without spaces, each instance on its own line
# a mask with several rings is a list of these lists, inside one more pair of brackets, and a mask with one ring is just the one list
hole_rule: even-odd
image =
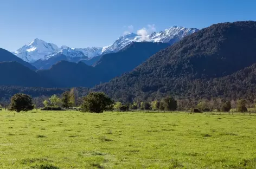
[[2,0],[0,48],[15,51],[35,37],[57,46],[103,47],[149,24],[160,31],[256,21],[255,8],[250,0]]

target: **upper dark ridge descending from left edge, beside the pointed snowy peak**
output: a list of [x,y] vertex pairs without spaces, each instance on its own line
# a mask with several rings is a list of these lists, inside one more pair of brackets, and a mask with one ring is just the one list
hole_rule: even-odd
[[29,64],[28,62],[23,61],[19,57],[10,53],[8,50],[0,48],[0,62],[10,62],[10,61],[16,61],[18,63],[21,63],[23,66],[28,67],[31,70],[36,70],[36,68],[31,64]]

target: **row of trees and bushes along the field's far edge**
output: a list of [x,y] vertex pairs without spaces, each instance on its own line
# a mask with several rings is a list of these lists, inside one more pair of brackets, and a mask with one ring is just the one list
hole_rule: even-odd
[[[39,100],[36,100],[36,102]],[[79,97],[78,90],[63,92],[60,96],[52,95],[49,98],[43,96],[40,100],[43,106],[37,106],[35,100],[30,95],[18,93],[10,99],[10,111],[29,111],[34,108],[41,108],[45,111],[61,111],[65,109],[77,109],[81,112],[102,113],[103,111],[191,111],[191,112],[247,112],[248,107],[255,107],[247,104],[246,100],[225,101],[221,98],[202,99],[200,101],[183,99],[177,100],[172,96],[167,96],[161,100],[151,102],[114,102],[103,92],[91,92],[86,96]],[[5,106],[6,108],[6,106]]]

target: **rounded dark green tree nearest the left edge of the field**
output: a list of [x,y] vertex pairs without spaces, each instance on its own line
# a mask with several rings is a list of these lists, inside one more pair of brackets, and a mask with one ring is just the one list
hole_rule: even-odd
[[10,111],[27,112],[34,108],[34,104],[30,95],[18,93],[11,97]]

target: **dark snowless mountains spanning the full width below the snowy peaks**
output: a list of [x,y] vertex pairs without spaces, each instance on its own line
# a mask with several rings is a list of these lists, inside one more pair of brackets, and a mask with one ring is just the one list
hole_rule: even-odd
[[[56,64],[36,71],[28,62],[0,49],[0,69],[6,73],[0,85],[37,89],[92,87],[89,91],[105,92],[121,102],[151,101],[167,95],[197,100],[256,99],[256,22],[218,23],[188,34],[179,35],[181,39],[172,45],[169,40],[135,42],[131,40],[136,35],[127,34],[119,40],[129,44],[121,47],[117,42],[115,46],[120,47],[117,52],[82,59],[67,56],[73,49],[62,47],[60,53],[42,59],[62,58],[61,61],[56,59],[52,61]],[[69,61],[70,58],[76,61]],[[87,59],[95,59],[92,66],[85,63]],[[16,62],[10,62],[13,60]],[[22,76],[26,76],[25,82]],[[29,90],[36,91],[26,88]]]

